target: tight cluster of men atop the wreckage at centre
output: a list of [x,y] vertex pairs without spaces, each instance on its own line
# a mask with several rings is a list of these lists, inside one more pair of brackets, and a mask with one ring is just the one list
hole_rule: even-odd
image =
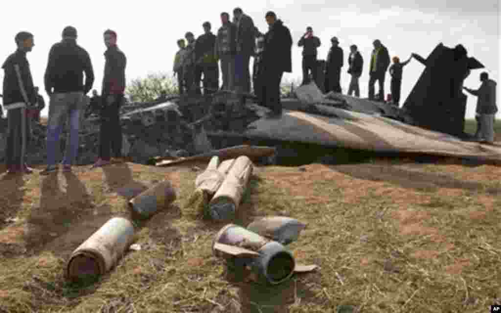
[[[204,22],[203,35],[195,39],[192,32],[187,32],[184,39],[177,41],[179,51],[173,71],[177,75],[179,94],[201,94],[202,85],[204,94],[218,90],[236,92],[242,95],[243,103],[254,86],[259,103],[271,110],[268,116],[279,116],[282,76],[284,72],[292,72],[291,32],[272,11],[265,15],[269,25],[266,34],[259,31],[241,8],[233,10],[233,19],[227,12],[222,12],[220,18],[221,26],[216,34],[211,32],[211,24]],[[250,57],[254,57],[252,76]]]

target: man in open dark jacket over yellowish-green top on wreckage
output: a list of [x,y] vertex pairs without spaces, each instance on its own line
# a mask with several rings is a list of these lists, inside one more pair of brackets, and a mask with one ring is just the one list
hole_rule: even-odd
[[388,49],[381,44],[380,40],[376,39],[372,44],[374,50],[372,51],[369,68],[369,99],[374,100],[374,84],[378,81],[378,100],[384,101],[384,79],[386,70],[390,66],[390,55]]

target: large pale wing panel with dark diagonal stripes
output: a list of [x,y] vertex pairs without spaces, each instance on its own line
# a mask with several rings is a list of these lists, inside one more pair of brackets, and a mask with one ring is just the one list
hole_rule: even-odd
[[263,116],[241,135],[282,141],[316,143],[374,152],[412,152],[501,161],[501,147],[465,142],[457,137],[411,126],[382,116],[351,112],[324,105],[321,111],[336,117],[284,110],[282,116]]

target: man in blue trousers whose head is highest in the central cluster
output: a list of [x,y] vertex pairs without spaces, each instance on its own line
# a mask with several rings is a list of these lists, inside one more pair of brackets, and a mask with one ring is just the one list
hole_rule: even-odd
[[236,25],[235,87],[237,91],[250,92],[250,56],[254,54],[254,22],[242,9],[233,10]]

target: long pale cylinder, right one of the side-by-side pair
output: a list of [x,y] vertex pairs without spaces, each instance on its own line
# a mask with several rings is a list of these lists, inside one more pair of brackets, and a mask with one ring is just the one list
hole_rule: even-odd
[[210,200],[210,216],[214,220],[234,218],[253,169],[254,164],[247,156],[236,158],[221,186]]

